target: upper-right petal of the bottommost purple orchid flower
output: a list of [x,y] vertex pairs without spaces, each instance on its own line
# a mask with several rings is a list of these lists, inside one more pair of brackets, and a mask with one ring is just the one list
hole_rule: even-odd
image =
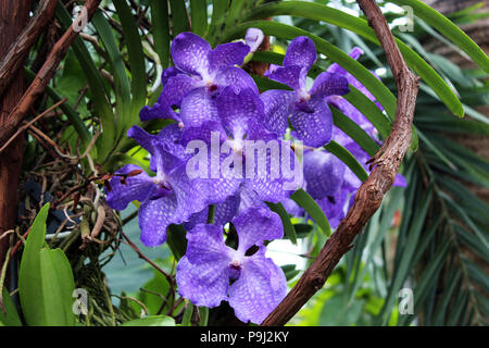
[[244,253],[254,245],[261,246],[264,240],[280,239],[284,226],[280,217],[263,208],[249,208],[233,220],[238,233],[238,251]]

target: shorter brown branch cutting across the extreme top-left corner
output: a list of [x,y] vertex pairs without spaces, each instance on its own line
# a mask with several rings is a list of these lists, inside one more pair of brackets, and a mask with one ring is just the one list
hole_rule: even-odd
[[16,76],[17,70],[24,63],[24,58],[36,42],[42,28],[54,14],[58,0],[42,0],[36,15],[29,21],[27,27],[9,48],[9,51],[0,62],[0,96],[11,80]]

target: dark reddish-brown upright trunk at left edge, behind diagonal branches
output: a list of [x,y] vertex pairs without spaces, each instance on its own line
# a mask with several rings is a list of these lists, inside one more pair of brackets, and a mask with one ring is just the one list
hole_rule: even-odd
[[[30,0],[0,0],[0,58],[27,25],[30,9]],[[25,90],[24,71],[21,69],[13,73],[15,77],[0,97],[0,128]],[[0,154],[0,236],[15,228],[23,147],[24,137],[20,136]],[[0,239],[0,269],[8,248],[9,238]]]

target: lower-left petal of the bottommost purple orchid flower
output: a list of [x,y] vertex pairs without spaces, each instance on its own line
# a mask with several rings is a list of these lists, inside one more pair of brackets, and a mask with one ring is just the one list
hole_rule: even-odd
[[227,262],[192,264],[183,257],[176,270],[178,294],[193,304],[213,308],[227,299]]

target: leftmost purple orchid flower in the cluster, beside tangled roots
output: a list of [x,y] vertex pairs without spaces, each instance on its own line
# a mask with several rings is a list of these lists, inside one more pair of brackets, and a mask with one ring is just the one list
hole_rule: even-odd
[[127,164],[115,172],[109,183],[106,201],[115,210],[123,210],[133,200],[141,202],[138,221],[141,241],[154,247],[166,240],[170,224],[180,224],[210,203],[224,201],[238,185],[233,182],[190,179],[186,173],[187,158],[183,147],[172,141],[178,137],[172,125],[158,135],[150,135],[133,126],[127,135],[151,154],[149,176],[137,165]]

